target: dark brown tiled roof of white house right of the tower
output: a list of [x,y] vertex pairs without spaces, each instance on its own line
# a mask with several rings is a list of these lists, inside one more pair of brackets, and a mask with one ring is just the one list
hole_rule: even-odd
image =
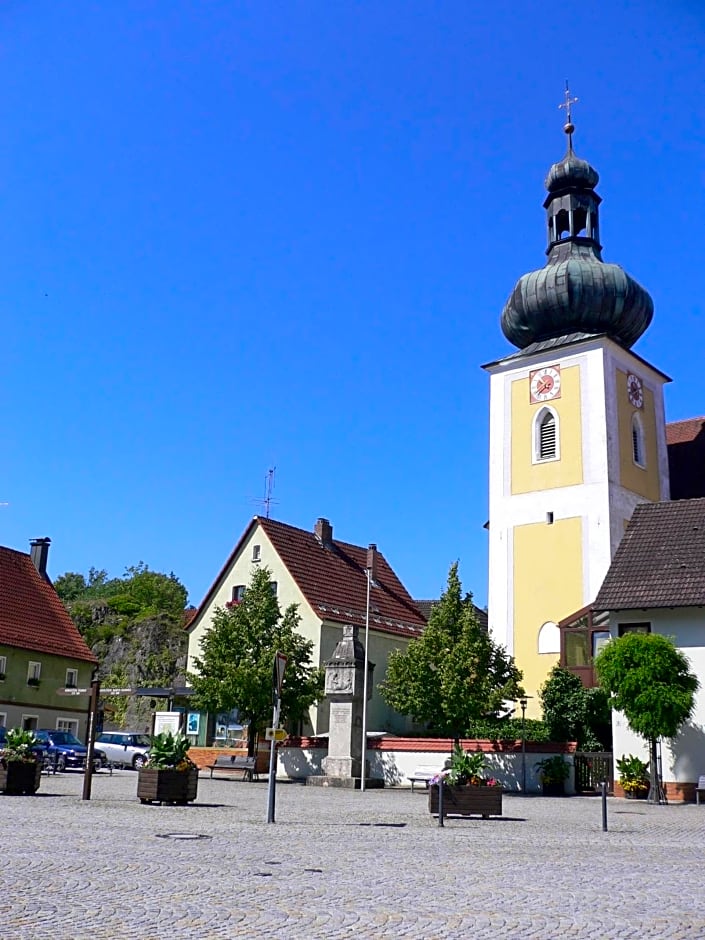
[[700,605],[705,605],[705,499],[637,506],[594,607]]

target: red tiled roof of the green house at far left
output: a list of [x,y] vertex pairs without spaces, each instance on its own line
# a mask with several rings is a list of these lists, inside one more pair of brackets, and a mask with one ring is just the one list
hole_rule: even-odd
[[97,663],[52,585],[24,552],[0,547],[0,644]]

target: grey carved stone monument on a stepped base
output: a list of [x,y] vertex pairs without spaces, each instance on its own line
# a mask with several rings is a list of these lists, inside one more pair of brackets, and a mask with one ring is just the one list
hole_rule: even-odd
[[[360,786],[362,766],[362,701],[365,684],[365,649],[358,639],[359,627],[343,625],[339,640],[326,663],[325,692],[330,701],[328,757],[323,760],[323,776],[309,777],[314,786]],[[367,662],[367,700],[372,697],[374,665]],[[365,760],[365,787],[381,787],[384,781],[369,776]]]

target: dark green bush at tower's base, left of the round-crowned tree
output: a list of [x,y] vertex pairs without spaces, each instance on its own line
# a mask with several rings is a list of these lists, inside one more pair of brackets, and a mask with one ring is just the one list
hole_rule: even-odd
[[612,722],[603,689],[586,689],[574,673],[554,666],[539,700],[552,741],[577,741],[583,751],[610,749]]

